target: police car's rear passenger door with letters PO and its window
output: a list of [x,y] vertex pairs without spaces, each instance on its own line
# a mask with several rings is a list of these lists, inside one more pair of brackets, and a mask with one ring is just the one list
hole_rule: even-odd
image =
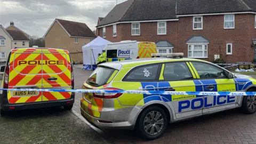
[[[159,77],[159,91],[202,91],[202,84],[186,62],[165,63]],[[161,95],[174,109],[175,120],[202,115],[203,97],[199,95]]]

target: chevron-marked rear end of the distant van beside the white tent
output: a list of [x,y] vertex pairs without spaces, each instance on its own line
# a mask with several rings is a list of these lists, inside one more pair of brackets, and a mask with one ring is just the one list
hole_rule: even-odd
[[150,42],[139,43],[138,56],[140,58],[151,58],[151,53],[157,53],[155,43],[150,43]]

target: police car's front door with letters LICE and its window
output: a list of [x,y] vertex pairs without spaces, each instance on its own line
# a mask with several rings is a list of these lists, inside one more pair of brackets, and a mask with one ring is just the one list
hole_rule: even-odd
[[207,94],[207,92],[236,91],[237,86],[234,79],[228,79],[225,70],[204,62],[191,62],[191,65],[204,85],[205,103],[203,113],[212,113],[236,107],[236,96]]

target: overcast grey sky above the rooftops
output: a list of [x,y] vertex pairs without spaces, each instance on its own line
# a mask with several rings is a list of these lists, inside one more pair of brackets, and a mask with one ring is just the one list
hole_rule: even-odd
[[[118,3],[125,0],[118,0]],[[42,37],[55,18],[84,22],[92,30],[116,0],[0,0],[0,25],[14,25],[30,36]]]

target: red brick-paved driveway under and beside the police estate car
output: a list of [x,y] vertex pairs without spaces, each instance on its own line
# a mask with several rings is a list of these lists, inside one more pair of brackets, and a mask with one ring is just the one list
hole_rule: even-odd
[[[76,89],[81,89],[92,73],[81,68],[74,68]],[[76,94],[73,109],[77,113],[81,98],[80,93]],[[154,141],[144,141],[133,131],[105,131],[103,135],[113,143],[256,143],[256,114],[245,115],[233,109],[173,123],[163,137]]]

